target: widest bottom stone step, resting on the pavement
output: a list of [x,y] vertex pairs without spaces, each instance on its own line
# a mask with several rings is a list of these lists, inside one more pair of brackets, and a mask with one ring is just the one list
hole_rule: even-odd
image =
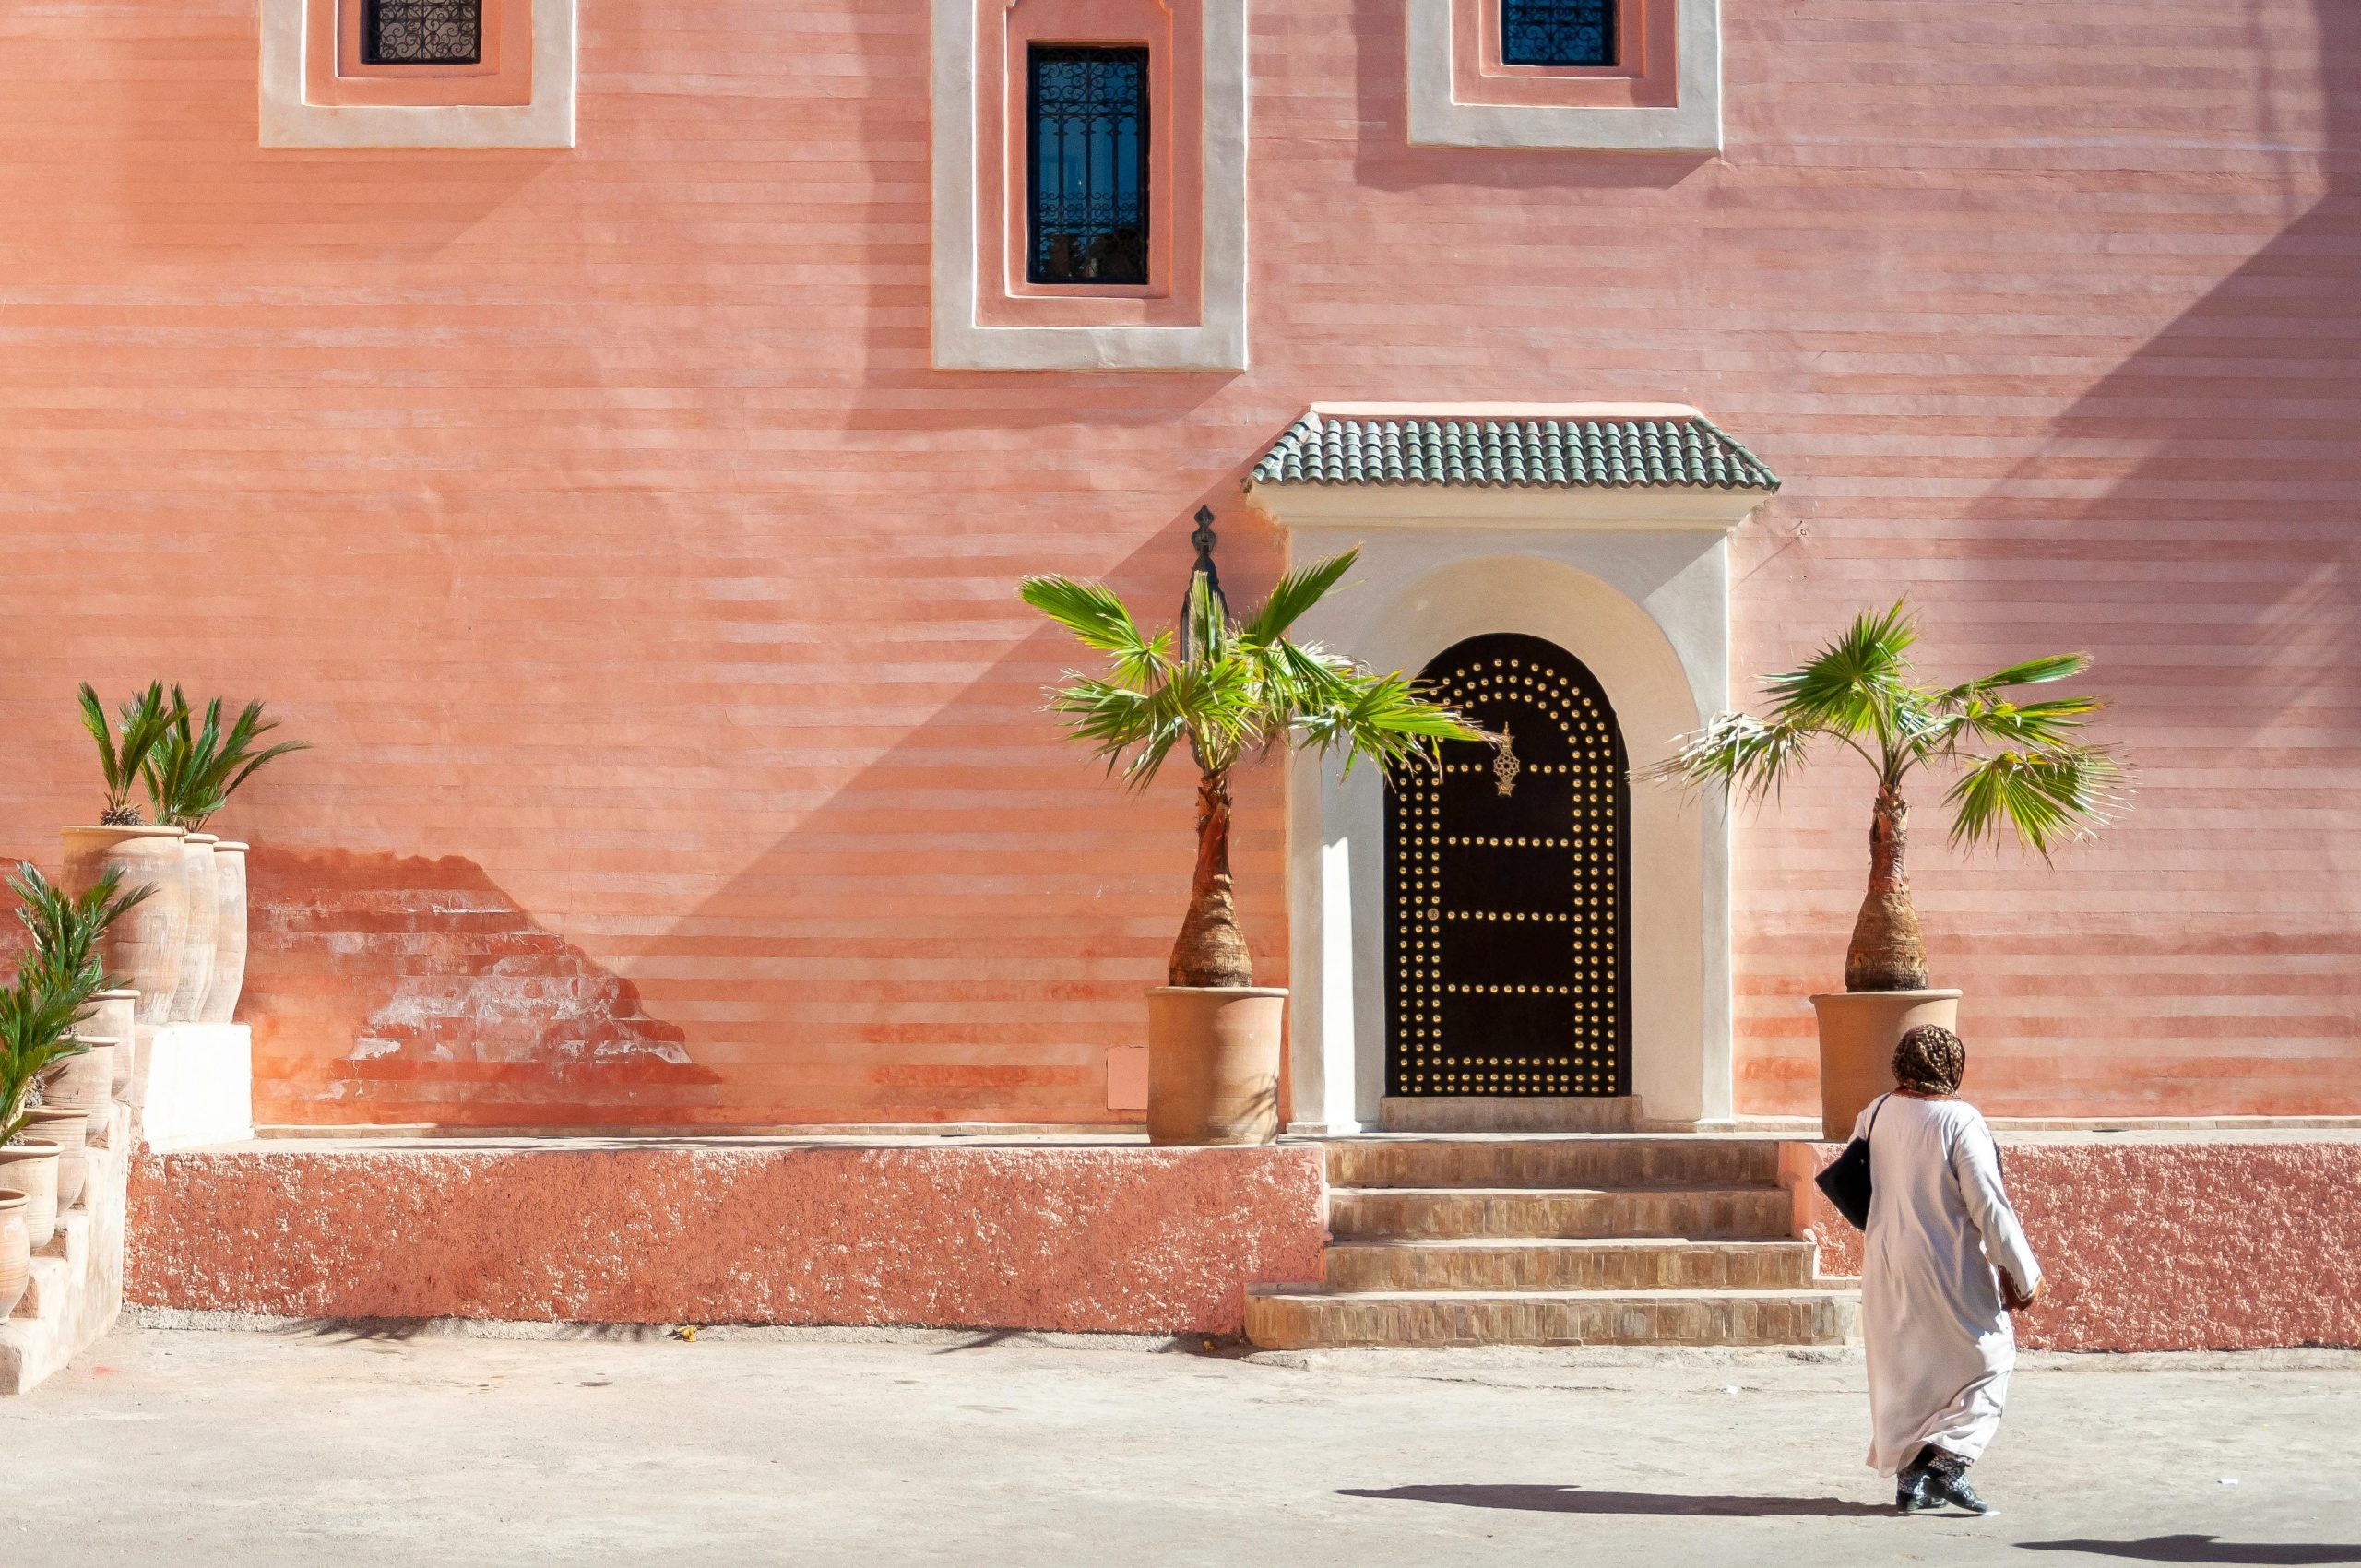
[[1247,1339],[1336,1346],[1634,1344],[1837,1346],[1860,1304],[1832,1289],[1329,1292],[1258,1285]]

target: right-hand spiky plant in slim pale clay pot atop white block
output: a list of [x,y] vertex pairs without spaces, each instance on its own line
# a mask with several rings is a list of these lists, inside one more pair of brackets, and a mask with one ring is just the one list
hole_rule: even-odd
[[279,727],[262,716],[260,701],[246,704],[224,727],[222,699],[215,697],[205,704],[205,723],[194,725],[187,697],[172,687],[172,723],[142,765],[156,822],[187,831],[189,926],[170,1018],[229,1023],[246,985],[246,845],[224,845],[205,831],[205,822],[255,770],[307,744],[279,741],[257,751],[257,741]]

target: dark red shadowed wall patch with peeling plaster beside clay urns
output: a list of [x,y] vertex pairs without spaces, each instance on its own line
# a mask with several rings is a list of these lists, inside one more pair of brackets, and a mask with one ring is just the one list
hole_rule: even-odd
[[715,1100],[682,1030],[472,860],[257,848],[248,900],[260,1122],[626,1124]]

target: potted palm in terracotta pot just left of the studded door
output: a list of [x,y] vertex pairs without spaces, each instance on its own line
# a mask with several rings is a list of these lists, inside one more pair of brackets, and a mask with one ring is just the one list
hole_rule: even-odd
[[[1211,515],[1199,512],[1199,524]],[[1438,741],[1485,739],[1419,697],[1410,675],[1372,675],[1291,642],[1287,631],[1353,569],[1348,550],[1289,571],[1242,623],[1230,619],[1197,531],[1197,569],[1173,633],[1147,635],[1103,583],[1025,579],[1022,597],[1084,647],[1103,675],[1051,690],[1074,739],[1145,789],[1176,751],[1197,767],[1197,869],[1169,985],[1147,992],[1147,1138],[1270,1143],[1277,1136],[1282,987],[1254,985],[1230,895],[1230,775],[1247,758],[1310,746],[1379,765],[1435,760]]]

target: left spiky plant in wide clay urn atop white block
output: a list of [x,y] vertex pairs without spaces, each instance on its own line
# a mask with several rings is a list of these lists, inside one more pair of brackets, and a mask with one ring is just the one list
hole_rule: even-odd
[[151,682],[146,692],[123,704],[116,720],[109,720],[99,694],[83,685],[83,727],[99,746],[99,770],[106,779],[106,810],[97,827],[68,827],[66,871],[61,883],[68,893],[87,893],[113,867],[118,886],[149,886],[153,897],[142,900],[130,919],[106,933],[106,968],[120,973],[137,987],[139,1023],[165,1023],[172,1006],[172,989],[179,985],[182,947],[189,926],[189,895],[182,874],[182,838],[177,827],[142,827],[139,808],[132,805],[132,786],[139,782],[149,753],[163,734],[182,718],[179,704],[170,704],[163,682]]

